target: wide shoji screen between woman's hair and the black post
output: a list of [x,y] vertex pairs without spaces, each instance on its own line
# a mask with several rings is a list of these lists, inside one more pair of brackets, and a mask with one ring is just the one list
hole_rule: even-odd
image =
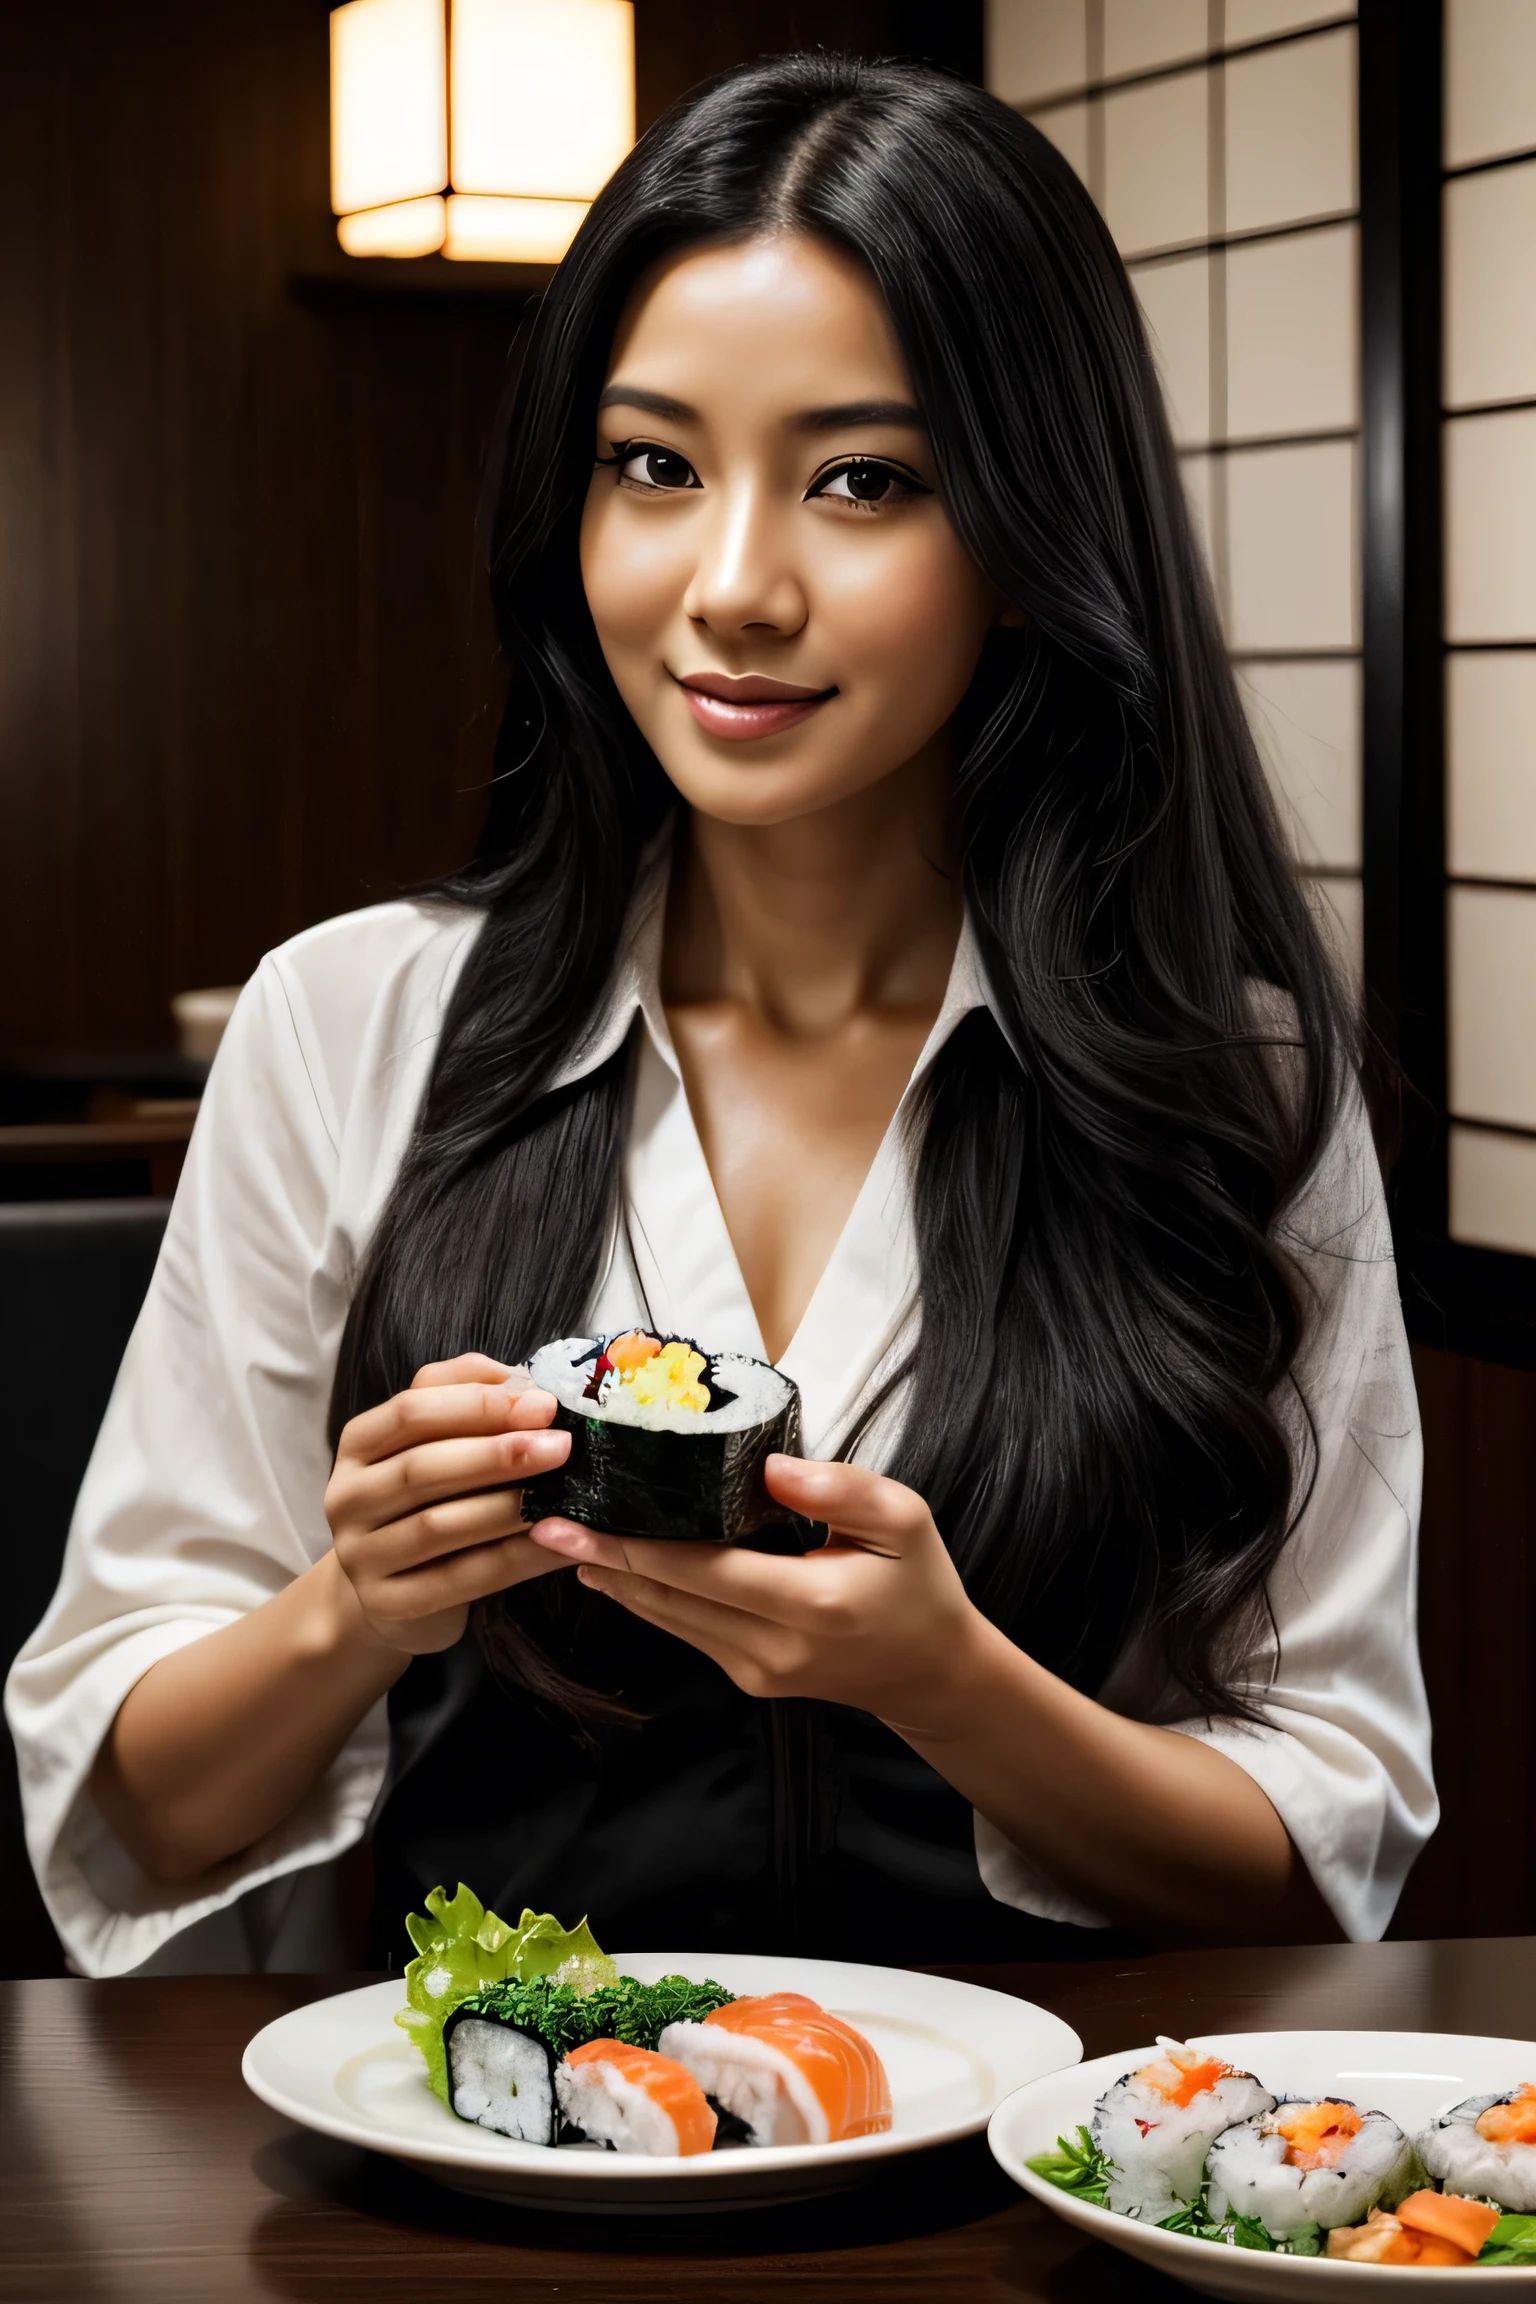
[[1359,975],[1354,44],[1354,9],[1297,0],[988,0],[988,85],[1135,281],[1260,749]]

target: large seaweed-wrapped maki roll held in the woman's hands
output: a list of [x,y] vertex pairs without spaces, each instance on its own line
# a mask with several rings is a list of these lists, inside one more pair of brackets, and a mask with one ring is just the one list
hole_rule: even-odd
[[771,1454],[799,1456],[799,1392],[767,1362],[626,1329],[562,1336],[527,1369],[571,1435],[567,1461],[523,1488],[530,1523],[792,1553],[822,1539],[762,1479]]

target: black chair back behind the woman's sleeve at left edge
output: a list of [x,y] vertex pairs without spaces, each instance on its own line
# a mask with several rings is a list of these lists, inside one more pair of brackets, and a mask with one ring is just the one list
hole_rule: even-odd
[[[7,1523],[0,1673],[41,1617],[168,1200],[0,1205],[0,1461]],[[0,1751],[0,1975],[64,1972],[21,1834],[16,1756]]]

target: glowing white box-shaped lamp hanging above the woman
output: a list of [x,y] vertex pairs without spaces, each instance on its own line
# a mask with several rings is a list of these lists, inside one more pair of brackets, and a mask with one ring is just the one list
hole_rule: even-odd
[[332,9],[332,207],[348,256],[560,263],[633,141],[631,0]]

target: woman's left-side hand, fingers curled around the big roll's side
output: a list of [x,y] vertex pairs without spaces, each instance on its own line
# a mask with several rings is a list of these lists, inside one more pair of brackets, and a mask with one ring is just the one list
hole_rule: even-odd
[[435,1362],[341,1433],[336,1562],[359,1629],[401,1657],[451,1647],[472,1601],[569,1567],[527,1539],[520,1481],[564,1463],[571,1438],[548,1431],[555,1396],[509,1375],[484,1352]]

